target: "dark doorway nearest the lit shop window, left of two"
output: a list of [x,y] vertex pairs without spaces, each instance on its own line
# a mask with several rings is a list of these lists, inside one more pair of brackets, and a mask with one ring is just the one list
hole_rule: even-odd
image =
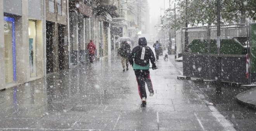
[[46,22],[46,73],[53,72],[53,32],[54,23]]

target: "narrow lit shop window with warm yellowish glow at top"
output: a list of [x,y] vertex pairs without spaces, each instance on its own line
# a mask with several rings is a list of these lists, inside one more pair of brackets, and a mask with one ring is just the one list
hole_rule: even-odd
[[29,65],[30,77],[36,76],[36,22],[29,20]]

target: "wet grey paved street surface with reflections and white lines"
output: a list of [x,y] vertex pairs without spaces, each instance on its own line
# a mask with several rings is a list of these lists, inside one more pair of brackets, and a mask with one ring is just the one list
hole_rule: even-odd
[[145,107],[133,70],[123,72],[117,56],[0,91],[0,130],[256,129],[255,110],[235,101],[238,87],[223,86],[216,95],[213,83],[178,80],[182,62],[173,58],[160,56],[150,70],[155,94]]

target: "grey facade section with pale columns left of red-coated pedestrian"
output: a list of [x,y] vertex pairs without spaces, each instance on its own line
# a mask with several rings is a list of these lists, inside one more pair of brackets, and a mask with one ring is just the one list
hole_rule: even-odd
[[88,61],[87,44],[95,42],[95,4],[94,0],[69,1],[70,66]]

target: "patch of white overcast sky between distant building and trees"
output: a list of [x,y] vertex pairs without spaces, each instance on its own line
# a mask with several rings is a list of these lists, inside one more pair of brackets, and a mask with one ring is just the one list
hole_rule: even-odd
[[[149,12],[150,12],[150,31],[155,33],[156,29],[154,26],[157,24],[159,16],[164,15],[164,10],[169,8],[169,0],[147,0],[149,2]],[[171,8],[173,8],[173,1],[171,0]]]

